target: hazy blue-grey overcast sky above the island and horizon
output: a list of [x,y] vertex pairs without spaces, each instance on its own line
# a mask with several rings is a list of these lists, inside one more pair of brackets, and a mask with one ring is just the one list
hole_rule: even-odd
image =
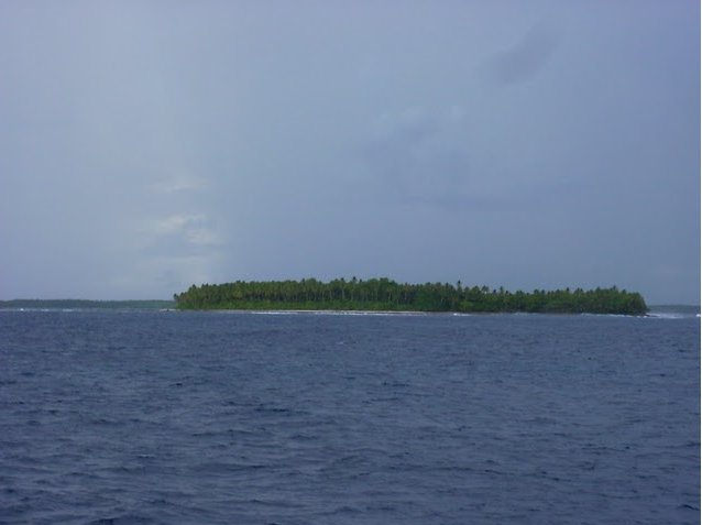
[[6,0],[0,70],[0,299],[700,302],[695,0]]

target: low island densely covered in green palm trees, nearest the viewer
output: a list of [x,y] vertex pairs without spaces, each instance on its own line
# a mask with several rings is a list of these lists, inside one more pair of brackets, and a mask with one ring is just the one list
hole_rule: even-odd
[[174,295],[177,309],[368,310],[645,315],[638,293],[610,288],[508,292],[449,283],[407,284],[388,278],[237,281],[190,286]]

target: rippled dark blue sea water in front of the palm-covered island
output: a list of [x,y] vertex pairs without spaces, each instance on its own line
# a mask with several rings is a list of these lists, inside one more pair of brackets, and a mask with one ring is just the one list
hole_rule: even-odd
[[700,319],[0,311],[0,522],[700,522]]

